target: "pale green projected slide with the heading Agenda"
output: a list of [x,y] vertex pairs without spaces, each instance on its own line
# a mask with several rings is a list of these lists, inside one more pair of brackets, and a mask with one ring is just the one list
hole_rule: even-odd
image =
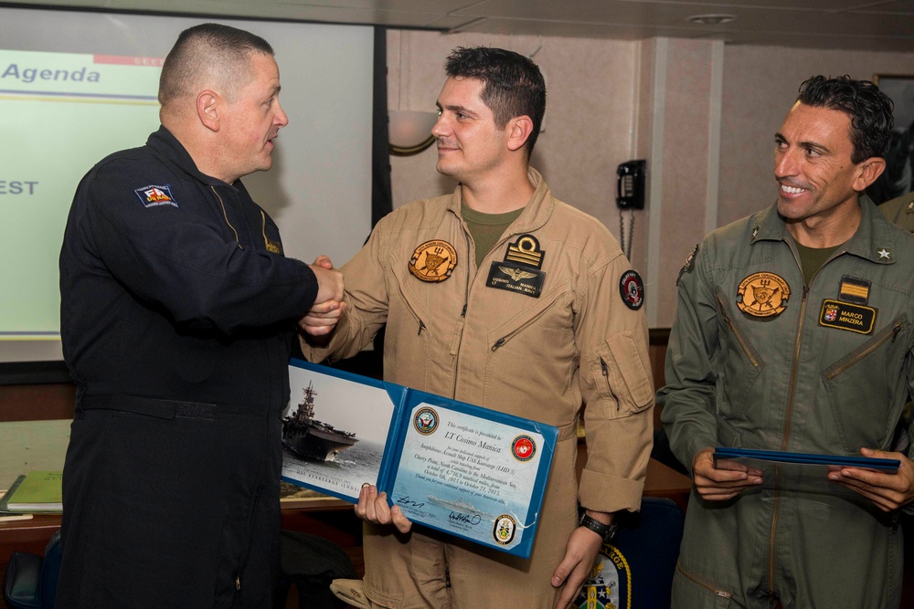
[[72,194],[94,163],[158,128],[162,60],[0,49],[0,339],[59,338]]

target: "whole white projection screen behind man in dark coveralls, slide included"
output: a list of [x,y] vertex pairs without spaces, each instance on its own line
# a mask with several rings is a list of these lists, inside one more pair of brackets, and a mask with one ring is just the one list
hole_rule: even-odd
[[58,257],[77,184],[158,129],[164,58],[203,21],[275,51],[289,125],[272,169],[243,182],[285,255],[339,266],[368,236],[371,27],[0,6],[0,364],[62,359]]

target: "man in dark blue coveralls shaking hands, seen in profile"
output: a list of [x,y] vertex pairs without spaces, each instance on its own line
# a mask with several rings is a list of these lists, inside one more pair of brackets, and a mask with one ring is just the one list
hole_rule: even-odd
[[283,257],[239,181],[271,167],[279,91],[265,40],[192,27],[165,58],[162,126],[77,190],[58,607],[271,607],[296,321],[343,296],[326,257]]

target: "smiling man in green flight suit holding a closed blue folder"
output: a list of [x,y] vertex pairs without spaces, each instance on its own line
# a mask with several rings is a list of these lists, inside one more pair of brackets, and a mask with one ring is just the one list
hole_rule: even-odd
[[[658,394],[695,482],[675,607],[900,604],[914,239],[860,196],[891,131],[872,83],[806,80],[774,137],[777,203],[711,233],[680,273]],[[715,464],[716,446],[900,467]]]

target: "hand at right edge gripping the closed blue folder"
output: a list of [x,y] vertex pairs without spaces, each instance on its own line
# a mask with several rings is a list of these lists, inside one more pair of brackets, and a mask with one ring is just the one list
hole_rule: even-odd
[[914,501],[914,463],[902,453],[861,448],[864,457],[898,459],[898,473],[887,474],[863,467],[841,467],[828,472],[828,479],[860,493],[882,511],[894,511]]

